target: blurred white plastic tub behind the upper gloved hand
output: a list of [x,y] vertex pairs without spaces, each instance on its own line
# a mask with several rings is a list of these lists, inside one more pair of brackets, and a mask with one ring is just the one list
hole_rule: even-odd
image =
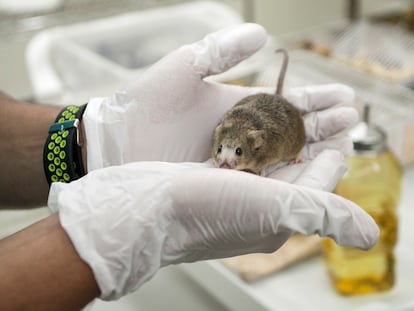
[[170,51],[242,21],[230,6],[197,1],[44,30],[26,52],[34,97],[65,105],[109,96]]

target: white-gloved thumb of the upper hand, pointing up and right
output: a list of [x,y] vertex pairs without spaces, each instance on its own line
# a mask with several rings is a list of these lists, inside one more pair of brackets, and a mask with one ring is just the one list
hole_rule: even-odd
[[251,56],[264,46],[267,38],[262,26],[245,23],[211,33],[183,50],[193,53],[190,65],[204,78],[222,73]]

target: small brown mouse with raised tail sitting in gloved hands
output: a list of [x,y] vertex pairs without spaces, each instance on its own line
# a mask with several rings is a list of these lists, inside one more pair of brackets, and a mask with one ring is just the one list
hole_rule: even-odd
[[247,96],[224,114],[212,138],[215,167],[264,175],[266,168],[279,162],[302,162],[303,119],[282,96],[289,55],[285,49],[275,52],[283,54],[275,93]]

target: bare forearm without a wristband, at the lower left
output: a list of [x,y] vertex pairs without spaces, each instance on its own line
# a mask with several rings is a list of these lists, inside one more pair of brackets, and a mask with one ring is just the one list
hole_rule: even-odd
[[99,288],[53,215],[0,241],[0,292],[0,310],[79,310]]

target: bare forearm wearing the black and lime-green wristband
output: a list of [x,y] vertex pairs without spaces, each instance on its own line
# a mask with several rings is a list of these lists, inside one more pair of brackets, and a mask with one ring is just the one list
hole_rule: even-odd
[[0,92],[0,205],[39,206],[47,200],[43,145],[62,109],[15,101]]

